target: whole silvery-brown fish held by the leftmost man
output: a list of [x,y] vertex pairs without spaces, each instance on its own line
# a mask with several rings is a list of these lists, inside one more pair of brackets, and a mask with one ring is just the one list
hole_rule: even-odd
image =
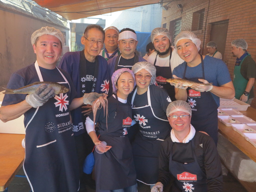
[[54,88],[56,95],[58,95],[60,93],[67,93],[69,91],[68,88],[66,88],[65,86],[63,86],[60,83],[49,82],[49,81],[41,81],[41,82],[34,82],[32,84],[21,87],[19,89],[7,89],[7,88],[3,87],[3,89],[5,89],[5,92],[3,92],[3,93],[4,94],[15,94],[15,93],[31,94],[31,93],[34,93],[35,90],[42,84],[46,84],[46,85],[51,86],[52,88]]

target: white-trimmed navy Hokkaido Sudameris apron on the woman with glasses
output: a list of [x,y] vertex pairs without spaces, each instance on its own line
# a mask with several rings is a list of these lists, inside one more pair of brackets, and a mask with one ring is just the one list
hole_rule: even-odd
[[[137,88],[132,97],[132,104],[136,93]],[[154,114],[150,86],[147,90],[147,100],[146,106],[132,107],[133,117],[139,124],[139,133],[132,143],[132,150],[137,180],[147,185],[154,185],[158,178],[160,145],[170,135],[171,127],[168,120],[160,119]]]

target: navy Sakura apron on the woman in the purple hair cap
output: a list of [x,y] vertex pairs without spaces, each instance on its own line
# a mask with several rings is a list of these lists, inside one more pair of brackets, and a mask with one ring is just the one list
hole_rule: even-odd
[[96,192],[123,189],[136,184],[132,147],[127,137],[127,129],[132,124],[132,108],[130,103],[121,103],[117,95],[115,97],[116,102],[109,102],[109,105],[117,106],[114,123],[108,124],[108,130],[102,123],[103,130],[98,131],[99,140],[112,148],[103,154],[94,151]]

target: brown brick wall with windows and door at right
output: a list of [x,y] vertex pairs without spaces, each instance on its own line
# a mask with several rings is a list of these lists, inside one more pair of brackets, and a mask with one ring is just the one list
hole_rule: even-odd
[[[178,8],[177,4],[182,4],[183,8]],[[169,29],[170,23],[178,18],[182,18],[181,30],[193,31],[201,39],[201,54],[207,54],[206,44],[210,39],[211,23],[229,20],[225,53],[222,60],[228,66],[230,76],[233,79],[234,63],[236,57],[231,53],[231,41],[243,38],[248,43],[247,51],[256,61],[256,1],[255,0],[180,0],[167,5],[168,10],[163,10],[162,24],[166,23]],[[205,9],[204,25],[202,30],[195,30],[195,12]],[[194,17],[193,17],[194,14]],[[194,19],[193,19],[194,18]],[[204,49],[202,52],[202,47]],[[256,83],[254,83],[256,87]],[[254,88],[256,93],[256,88]],[[256,108],[256,99],[252,101],[251,106]]]

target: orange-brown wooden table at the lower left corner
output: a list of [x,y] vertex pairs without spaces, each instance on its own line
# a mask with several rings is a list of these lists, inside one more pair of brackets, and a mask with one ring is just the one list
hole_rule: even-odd
[[25,149],[21,142],[25,135],[0,133],[0,191],[8,187],[23,165]]

